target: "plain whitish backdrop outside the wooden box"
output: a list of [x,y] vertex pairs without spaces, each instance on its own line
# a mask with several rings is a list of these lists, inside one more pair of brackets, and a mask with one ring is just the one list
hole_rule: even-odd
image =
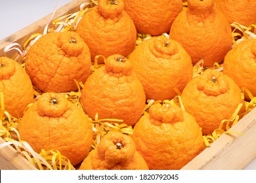
[[[70,1],[72,0],[0,0],[0,40],[51,14],[56,5],[60,8]],[[256,158],[245,169],[255,170]]]

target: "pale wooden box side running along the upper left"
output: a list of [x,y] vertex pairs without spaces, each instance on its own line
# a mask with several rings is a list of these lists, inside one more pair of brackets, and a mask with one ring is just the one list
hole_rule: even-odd
[[[70,14],[72,12],[76,12],[79,10],[79,5],[81,3],[89,3],[90,0],[73,0],[67,5],[64,5],[63,7],[59,8],[56,13],[53,16],[53,20],[64,16],[66,14]],[[53,7],[54,8],[54,7]],[[43,33],[43,30],[45,29],[45,25],[49,22],[52,14],[49,14],[48,16],[45,16],[41,18],[40,20],[37,20],[31,25],[28,25],[27,27],[24,27],[24,29],[21,29],[20,31],[17,31],[16,33],[13,33],[12,35],[9,35],[9,37],[6,37],[5,39],[2,39],[0,41],[0,56],[4,56],[3,49],[5,46],[8,46],[12,42],[17,42],[21,46],[26,42],[31,35],[34,33]],[[14,56],[15,52],[8,52],[7,57],[12,58]]]

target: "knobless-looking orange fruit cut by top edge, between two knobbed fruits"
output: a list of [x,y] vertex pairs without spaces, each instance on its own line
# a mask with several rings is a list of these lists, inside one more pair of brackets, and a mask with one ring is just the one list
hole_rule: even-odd
[[169,33],[171,24],[182,11],[181,0],[123,0],[125,10],[139,33],[161,35]]

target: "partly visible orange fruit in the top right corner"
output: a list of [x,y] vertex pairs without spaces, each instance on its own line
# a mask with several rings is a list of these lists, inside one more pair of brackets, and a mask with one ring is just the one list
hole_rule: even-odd
[[215,0],[215,3],[230,24],[237,22],[249,26],[256,23],[256,1]]

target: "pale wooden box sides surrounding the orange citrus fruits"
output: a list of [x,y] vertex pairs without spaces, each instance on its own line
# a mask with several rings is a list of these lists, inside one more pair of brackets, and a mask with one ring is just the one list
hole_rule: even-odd
[[[56,10],[53,20],[65,14],[77,12],[81,3],[89,2],[91,1],[74,0]],[[43,33],[43,29],[50,18],[51,14],[1,40],[0,56],[4,56],[3,49],[10,43],[18,42],[22,45],[34,33]],[[14,52],[8,52],[7,56],[12,58]],[[224,133],[182,169],[243,169],[251,160],[256,158],[256,108],[251,110],[228,131],[238,133]],[[0,144],[3,142],[5,141],[0,138]],[[12,146],[5,146],[0,148],[0,169],[36,168]]]

